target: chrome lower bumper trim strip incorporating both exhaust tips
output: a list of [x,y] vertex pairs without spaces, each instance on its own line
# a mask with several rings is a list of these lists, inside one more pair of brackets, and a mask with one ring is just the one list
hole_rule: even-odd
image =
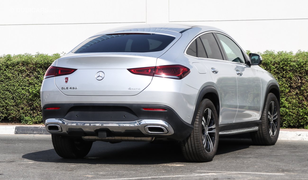
[[50,133],[73,135],[96,135],[99,131],[110,132],[111,134],[125,135],[125,132],[143,133],[146,135],[172,135],[173,128],[168,122],[158,119],[140,119],[137,121],[69,121],[67,119],[47,119],[46,129]]

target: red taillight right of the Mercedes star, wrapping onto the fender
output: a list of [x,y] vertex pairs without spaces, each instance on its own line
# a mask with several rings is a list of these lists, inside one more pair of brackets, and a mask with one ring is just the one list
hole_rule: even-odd
[[157,76],[162,78],[182,79],[190,72],[189,68],[182,65],[166,65],[156,67],[142,67],[127,69],[132,74]]

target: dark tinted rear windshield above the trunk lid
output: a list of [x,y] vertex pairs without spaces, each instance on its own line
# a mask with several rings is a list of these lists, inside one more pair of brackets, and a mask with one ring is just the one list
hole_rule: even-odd
[[105,52],[155,52],[165,49],[175,37],[162,34],[125,33],[106,34],[89,38],[73,53],[105,53]]

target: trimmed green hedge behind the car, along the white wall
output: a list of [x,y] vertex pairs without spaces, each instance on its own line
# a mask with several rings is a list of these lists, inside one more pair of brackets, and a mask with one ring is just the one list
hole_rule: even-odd
[[[308,52],[259,54],[263,58],[261,66],[280,85],[281,126],[308,129]],[[45,71],[59,57],[60,54],[0,56],[0,121],[42,123],[40,87]]]

